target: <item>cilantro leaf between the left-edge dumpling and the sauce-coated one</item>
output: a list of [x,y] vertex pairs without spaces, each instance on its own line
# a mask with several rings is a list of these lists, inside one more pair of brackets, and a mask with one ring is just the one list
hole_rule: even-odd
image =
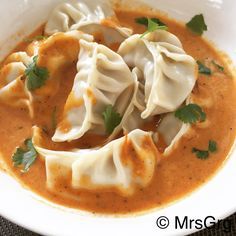
[[48,69],[37,66],[37,60],[38,56],[34,56],[33,62],[25,70],[25,76],[27,78],[26,85],[30,91],[42,87],[49,77]]

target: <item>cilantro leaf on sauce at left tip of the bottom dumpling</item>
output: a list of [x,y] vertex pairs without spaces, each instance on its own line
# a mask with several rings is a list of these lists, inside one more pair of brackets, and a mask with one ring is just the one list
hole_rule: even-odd
[[32,143],[32,139],[26,139],[26,148],[17,148],[16,152],[12,156],[14,166],[23,166],[22,171],[27,172],[37,158],[37,152]]

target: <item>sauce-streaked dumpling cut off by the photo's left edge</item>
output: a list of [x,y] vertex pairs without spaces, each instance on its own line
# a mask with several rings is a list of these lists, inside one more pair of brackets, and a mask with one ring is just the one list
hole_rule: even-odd
[[32,58],[25,52],[11,54],[0,70],[0,101],[10,106],[27,107],[32,115],[32,97],[25,87],[24,72]]

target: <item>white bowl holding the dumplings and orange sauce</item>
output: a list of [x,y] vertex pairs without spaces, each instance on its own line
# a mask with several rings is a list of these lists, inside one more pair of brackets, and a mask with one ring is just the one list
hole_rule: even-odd
[[[1,0],[0,59],[27,33],[44,22],[61,0]],[[235,0],[146,0],[152,7],[181,21],[203,13],[209,30],[205,34],[236,61]],[[186,198],[161,210],[124,218],[94,217],[90,214],[54,207],[32,197],[15,180],[0,173],[0,214],[9,220],[43,235],[184,235],[196,231],[175,229],[175,216],[183,219],[216,220],[236,211],[236,150],[223,168],[207,184]],[[167,229],[159,229],[156,220],[169,218]],[[164,223],[164,221],[162,222]],[[208,223],[210,223],[210,218]]]

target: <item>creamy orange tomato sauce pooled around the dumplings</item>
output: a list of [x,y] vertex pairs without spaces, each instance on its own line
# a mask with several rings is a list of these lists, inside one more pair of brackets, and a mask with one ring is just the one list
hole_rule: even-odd
[[[135,23],[137,17],[158,17],[168,25],[169,31],[181,40],[187,54],[200,61],[214,60],[224,66],[224,73],[217,72],[211,76],[199,74],[193,94],[209,103],[204,108],[209,126],[203,129],[200,125],[193,126],[194,136],[183,137],[178,146],[168,157],[162,157],[156,166],[155,174],[151,183],[146,188],[140,188],[130,197],[122,197],[114,189],[110,191],[88,191],[68,189],[66,183],[61,182],[56,192],[50,192],[46,186],[46,171],[43,158],[38,158],[27,173],[22,173],[19,168],[13,167],[11,156],[17,146],[20,146],[26,138],[32,136],[32,126],[38,125],[43,128],[43,145],[53,150],[70,150],[72,148],[90,148],[102,145],[107,137],[99,135],[85,135],[79,141],[70,143],[54,143],[51,137],[54,133],[51,121],[52,112],[55,110],[57,121],[63,116],[63,107],[66,98],[72,88],[73,79],[76,74],[76,62],[61,68],[57,73],[61,81],[59,91],[55,96],[46,97],[34,104],[35,118],[30,119],[25,108],[11,108],[0,105],[0,150],[9,172],[17,177],[21,183],[49,199],[54,203],[68,207],[88,210],[93,213],[130,213],[148,210],[154,207],[164,206],[171,201],[183,197],[216,173],[233,145],[236,133],[236,93],[235,80],[230,76],[228,67],[221,53],[217,52],[203,38],[193,35],[184,25],[177,23],[167,17],[156,13],[148,14],[146,11],[116,11],[121,24],[133,28],[134,33],[143,33],[145,27]],[[109,24],[110,21],[104,22]],[[42,28],[38,29],[32,36],[40,35]],[[97,37],[97,41],[103,39]],[[15,51],[25,50],[28,43],[21,43]],[[116,50],[119,45],[112,46]],[[46,62],[41,62],[44,65]],[[79,104],[78,104],[79,105]],[[70,106],[70,104],[67,104]],[[154,130],[158,126],[160,117],[143,127],[145,130]],[[68,127],[62,127],[67,129]],[[215,140],[218,151],[210,155],[207,160],[200,160],[192,153],[192,148],[206,149],[209,140]],[[159,141],[158,149],[163,150],[165,144]],[[125,150],[127,152],[129,150]],[[140,171],[137,169],[137,171]]]

